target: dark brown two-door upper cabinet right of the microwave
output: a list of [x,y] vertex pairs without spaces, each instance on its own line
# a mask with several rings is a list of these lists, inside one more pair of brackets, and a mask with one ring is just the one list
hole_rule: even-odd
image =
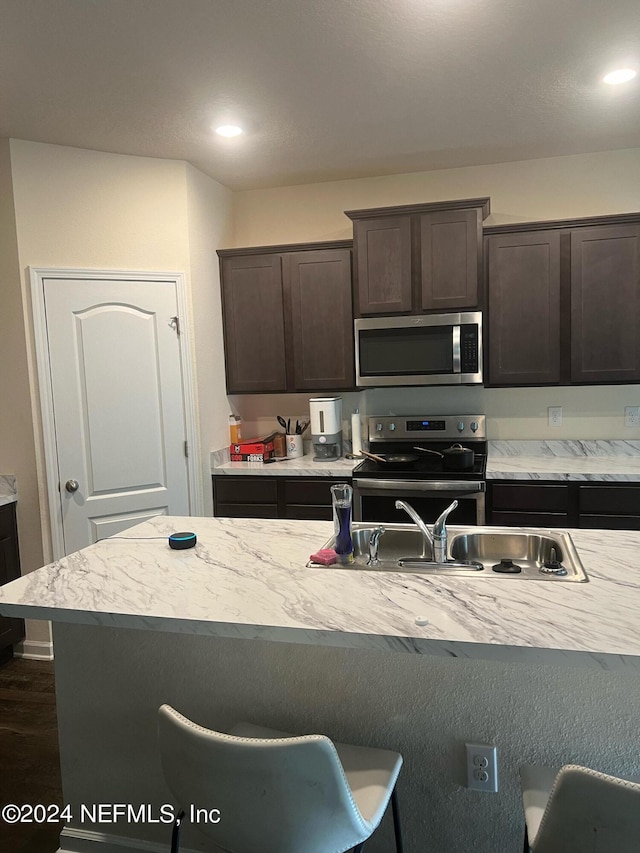
[[640,214],[485,234],[488,385],[640,381]]

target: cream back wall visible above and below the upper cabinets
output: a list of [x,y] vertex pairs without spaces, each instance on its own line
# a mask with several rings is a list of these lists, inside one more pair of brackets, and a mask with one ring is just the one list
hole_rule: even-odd
[[[637,211],[640,148],[247,190],[235,196],[235,245],[345,239],[352,236],[345,210],[480,196],[491,198],[486,224]],[[372,415],[484,412],[491,438],[640,438],[640,429],[624,426],[624,407],[640,405],[638,385],[381,389],[363,398],[361,410]],[[249,397],[235,397],[234,403],[256,428],[270,422],[268,397],[262,404]],[[287,401],[278,405],[286,407]],[[301,402],[289,405],[300,409]],[[548,406],[563,407],[561,428],[548,426]]]

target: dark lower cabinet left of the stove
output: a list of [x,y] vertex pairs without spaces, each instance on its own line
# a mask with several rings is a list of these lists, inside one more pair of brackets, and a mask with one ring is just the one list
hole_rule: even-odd
[[331,486],[342,477],[213,476],[213,514],[231,518],[330,521]]

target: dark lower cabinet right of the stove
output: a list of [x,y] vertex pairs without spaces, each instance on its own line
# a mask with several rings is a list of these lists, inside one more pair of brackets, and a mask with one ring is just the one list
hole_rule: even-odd
[[490,480],[487,499],[497,526],[640,530],[640,484]]

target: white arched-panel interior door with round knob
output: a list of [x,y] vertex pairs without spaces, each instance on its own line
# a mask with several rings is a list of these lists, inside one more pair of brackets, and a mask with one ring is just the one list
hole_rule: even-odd
[[189,515],[175,281],[44,279],[64,552]]

